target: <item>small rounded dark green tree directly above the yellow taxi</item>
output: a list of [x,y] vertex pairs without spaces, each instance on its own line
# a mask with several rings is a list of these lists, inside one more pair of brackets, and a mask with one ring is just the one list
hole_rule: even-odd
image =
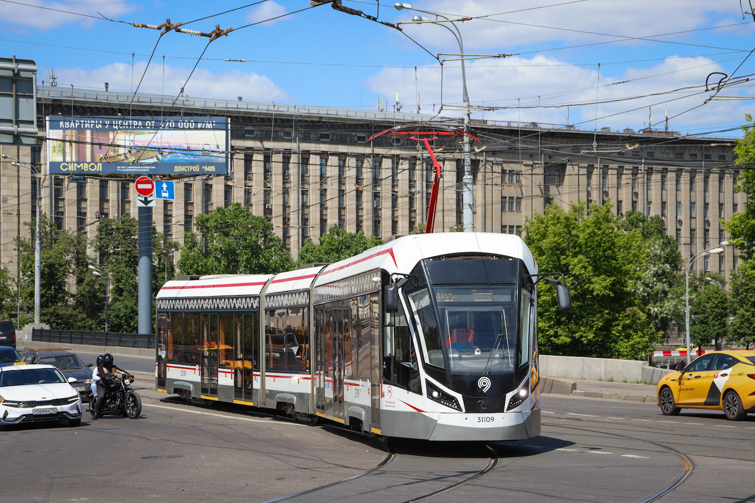
[[[711,284],[706,278],[718,281]],[[710,271],[701,271],[690,284],[689,339],[700,347],[720,341],[729,334],[729,294],[724,290],[724,279]],[[693,296],[694,294],[694,296]]]

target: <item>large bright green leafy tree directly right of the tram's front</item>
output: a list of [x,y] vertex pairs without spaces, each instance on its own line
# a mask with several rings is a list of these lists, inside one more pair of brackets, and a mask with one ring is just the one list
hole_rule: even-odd
[[564,273],[573,310],[556,312],[556,292],[538,291],[538,331],[544,354],[645,357],[660,339],[636,293],[648,253],[639,231],[624,231],[610,204],[551,204],[528,219],[525,242],[541,271]]

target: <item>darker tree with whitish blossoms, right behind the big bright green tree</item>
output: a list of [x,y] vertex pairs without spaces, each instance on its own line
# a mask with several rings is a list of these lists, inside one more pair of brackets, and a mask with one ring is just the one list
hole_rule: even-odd
[[638,211],[627,211],[621,220],[625,231],[639,231],[645,242],[648,259],[635,291],[646,307],[652,326],[662,332],[673,322],[684,322],[684,278],[677,271],[682,268],[682,254],[676,239],[666,235],[659,215],[649,218]]

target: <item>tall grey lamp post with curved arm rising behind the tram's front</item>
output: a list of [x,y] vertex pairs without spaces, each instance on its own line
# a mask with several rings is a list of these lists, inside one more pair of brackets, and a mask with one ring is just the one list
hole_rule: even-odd
[[[430,14],[436,17],[442,17],[445,21],[433,21],[427,19],[427,17],[421,17],[421,16],[414,16],[411,18],[411,21],[414,23],[439,23],[440,26],[443,26],[445,29],[448,29],[449,32],[451,32],[451,35],[454,35],[454,38],[456,38],[456,41],[459,44],[459,54],[461,54],[461,83],[462,83],[462,100],[464,101],[464,133],[467,133],[464,135],[464,143],[463,143],[463,150],[464,150],[464,177],[462,180],[462,186],[463,189],[461,191],[461,206],[462,206],[462,212],[464,216],[464,232],[474,232],[474,210],[473,210],[473,177],[472,177],[472,146],[470,143],[470,98],[467,94],[467,69],[464,67],[464,42],[461,39],[461,32],[459,31],[458,27],[453,23],[453,21],[449,20],[448,17],[442,16],[441,14],[436,14],[433,12],[428,11],[421,11],[420,9],[412,8],[411,4],[405,4],[402,2],[396,2],[393,7],[396,8],[396,10],[401,11],[402,9],[409,9],[411,11],[417,11],[417,12],[424,12],[424,14]],[[454,27],[454,29],[448,28],[448,26],[445,26],[443,23],[451,23],[451,26]],[[400,23],[400,24],[407,24],[407,23]],[[454,30],[456,30],[454,32]]]

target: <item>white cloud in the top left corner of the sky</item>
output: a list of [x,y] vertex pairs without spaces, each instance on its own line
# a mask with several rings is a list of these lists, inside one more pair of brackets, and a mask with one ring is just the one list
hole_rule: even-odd
[[[0,2],[0,19],[11,26],[17,25],[39,30],[59,28],[69,23],[80,23],[91,28],[98,22],[97,20],[76,14],[66,14],[66,12],[88,14],[95,17],[98,17],[97,12],[100,12],[106,17],[116,19],[137,9],[134,5],[130,5],[128,0],[109,0],[108,2],[101,2],[100,0],[63,0],[62,2],[27,0],[26,3],[29,5]],[[45,8],[32,7],[32,5]],[[103,22],[107,23],[108,21],[103,20]]]

